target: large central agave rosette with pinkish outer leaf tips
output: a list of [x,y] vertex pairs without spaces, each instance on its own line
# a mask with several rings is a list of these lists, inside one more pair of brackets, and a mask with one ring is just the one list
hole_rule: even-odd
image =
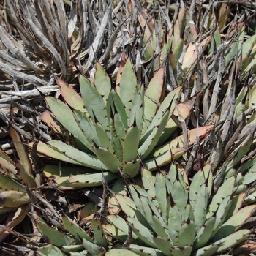
[[[156,162],[162,166],[169,163],[172,157],[180,157],[184,153],[182,136],[157,147],[177,128],[170,116],[181,94],[181,87],[178,87],[161,102],[164,68],[158,70],[145,91],[144,86],[137,83],[129,59],[120,72],[120,83],[115,88],[100,64],[96,64],[96,69],[94,84],[80,75],[81,97],[72,86],[59,78],[56,82],[65,103],[54,97],[45,97],[55,118],[74,136],[77,148],[59,140],[50,140],[48,143],[39,142],[37,151],[90,169],[110,170],[112,173],[121,171],[128,178],[138,174],[140,160],[148,170],[155,170]],[[185,113],[182,106],[180,110],[184,118],[189,115],[189,111]],[[48,120],[48,124],[53,123]],[[211,127],[200,127],[199,136],[206,135]],[[189,132],[189,143],[195,141],[193,132]],[[64,186],[62,179],[59,182]],[[106,180],[111,179],[113,175],[108,173]],[[74,183],[77,181],[76,177]],[[82,182],[81,179],[79,181]],[[86,182],[90,181],[86,180],[84,184]],[[68,183],[72,184],[72,177],[65,184]]]

